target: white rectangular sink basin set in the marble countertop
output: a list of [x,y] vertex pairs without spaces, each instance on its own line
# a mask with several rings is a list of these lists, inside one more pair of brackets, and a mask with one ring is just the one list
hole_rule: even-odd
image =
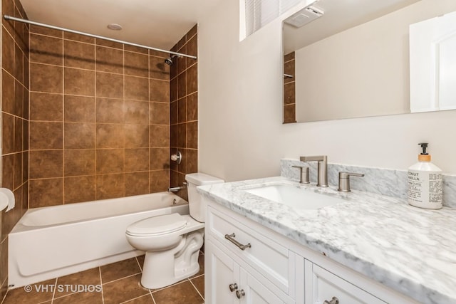
[[243,191],[296,209],[319,209],[324,206],[346,202],[346,200],[338,197],[319,194],[289,184],[269,184],[243,189]]

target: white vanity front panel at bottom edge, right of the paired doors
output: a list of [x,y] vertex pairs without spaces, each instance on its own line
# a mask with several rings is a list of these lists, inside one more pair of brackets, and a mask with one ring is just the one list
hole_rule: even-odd
[[321,304],[325,300],[331,303],[331,299],[336,297],[339,304],[386,304],[371,293],[310,261],[306,261],[305,281],[306,284],[311,284],[311,286],[307,286],[309,288],[306,288],[306,290],[311,290],[306,294],[306,303]]

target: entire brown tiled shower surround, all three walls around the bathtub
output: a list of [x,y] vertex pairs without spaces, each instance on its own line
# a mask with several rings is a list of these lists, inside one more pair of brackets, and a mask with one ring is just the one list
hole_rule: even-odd
[[[19,0],[1,12],[27,19]],[[7,236],[28,208],[161,192],[197,172],[196,60],[170,68],[167,53],[2,24],[1,187],[16,207],[1,212],[0,299]],[[172,50],[196,56],[197,26]]]

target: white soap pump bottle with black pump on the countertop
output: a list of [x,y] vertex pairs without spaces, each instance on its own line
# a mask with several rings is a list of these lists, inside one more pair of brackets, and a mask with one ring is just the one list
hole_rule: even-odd
[[442,170],[430,162],[427,142],[418,144],[423,152],[418,162],[408,168],[408,204],[425,209],[442,208]]

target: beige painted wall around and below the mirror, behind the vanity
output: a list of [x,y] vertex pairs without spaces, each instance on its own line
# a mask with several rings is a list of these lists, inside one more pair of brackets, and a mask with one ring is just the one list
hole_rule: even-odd
[[456,173],[455,111],[282,125],[281,21],[239,42],[238,16],[239,2],[223,1],[199,22],[199,171],[227,181],[274,176],[279,159],[311,154],[406,169],[428,141],[435,164]]

